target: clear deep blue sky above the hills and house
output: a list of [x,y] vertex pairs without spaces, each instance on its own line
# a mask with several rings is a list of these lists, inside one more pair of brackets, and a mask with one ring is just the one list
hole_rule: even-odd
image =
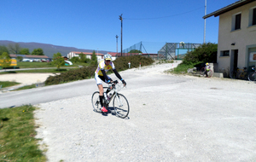
[[[203,43],[205,1],[5,0],[0,40],[116,52],[122,14],[123,49],[140,42],[148,50],[162,43]],[[207,14],[236,1],[207,0]],[[218,43],[218,17],[207,18],[206,29],[206,42]]]

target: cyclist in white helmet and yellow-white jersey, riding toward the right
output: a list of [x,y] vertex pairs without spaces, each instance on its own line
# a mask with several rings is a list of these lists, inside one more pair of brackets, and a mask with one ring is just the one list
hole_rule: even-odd
[[[112,56],[109,54],[104,55],[104,61],[101,61],[99,63],[99,65],[95,71],[96,84],[100,91],[100,102],[102,105],[102,112],[104,112],[104,113],[107,113],[108,110],[106,109],[106,107],[103,107],[104,90],[103,90],[103,86],[102,86],[102,81],[107,84],[110,84],[113,81],[112,78],[108,77],[108,75],[107,75],[107,72],[110,69],[113,69],[115,76],[122,81],[124,86],[126,85],[125,80],[119,75],[119,72],[116,71],[116,69],[113,65]],[[107,93],[108,93],[108,91],[107,91]]]

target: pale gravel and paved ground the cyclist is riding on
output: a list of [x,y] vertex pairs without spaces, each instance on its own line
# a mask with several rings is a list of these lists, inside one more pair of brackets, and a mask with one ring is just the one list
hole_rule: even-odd
[[165,68],[121,72],[128,119],[92,111],[94,79],[36,90],[45,94],[35,117],[49,161],[256,161],[256,84]]

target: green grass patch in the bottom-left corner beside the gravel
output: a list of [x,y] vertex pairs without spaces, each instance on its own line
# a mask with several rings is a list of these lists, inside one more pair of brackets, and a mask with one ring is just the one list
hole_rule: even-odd
[[35,138],[35,109],[27,105],[0,109],[0,161],[46,161]]

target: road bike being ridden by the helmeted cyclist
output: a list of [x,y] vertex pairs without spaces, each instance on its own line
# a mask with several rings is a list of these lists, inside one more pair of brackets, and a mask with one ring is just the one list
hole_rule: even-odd
[[[112,87],[112,90],[111,90]],[[129,112],[130,112],[130,107],[129,107],[129,102],[125,98],[125,95],[119,94],[119,90],[124,88],[123,84],[118,84],[118,81],[115,80],[111,84],[108,84],[108,87],[103,87],[103,89],[107,89],[104,92],[104,98],[103,98],[103,107],[106,107],[107,109],[110,109],[111,107],[108,107],[110,102],[113,101],[113,110],[115,114],[122,119],[125,119]],[[108,94],[106,93],[108,90]],[[100,92],[96,91],[92,94],[91,96],[91,103],[93,110],[96,113],[102,113],[102,106],[100,102]]]

